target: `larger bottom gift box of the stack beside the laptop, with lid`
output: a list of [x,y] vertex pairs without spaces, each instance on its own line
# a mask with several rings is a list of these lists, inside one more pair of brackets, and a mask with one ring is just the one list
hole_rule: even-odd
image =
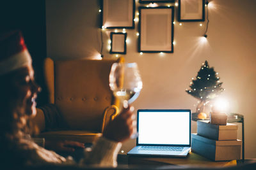
[[241,140],[217,141],[192,134],[191,150],[211,160],[241,159]]

